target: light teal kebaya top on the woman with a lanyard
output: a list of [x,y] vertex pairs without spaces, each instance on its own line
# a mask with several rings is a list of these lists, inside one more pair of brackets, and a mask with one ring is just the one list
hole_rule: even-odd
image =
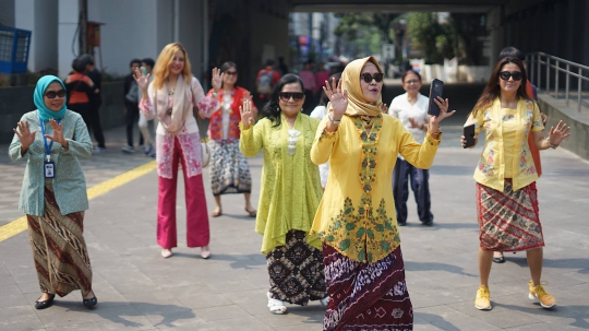
[[[21,121],[27,121],[31,132],[37,132],[35,141],[25,155],[21,155],[21,140],[16,134],[9,147],[9,156],[12,161],[27,159],[19,210],[28,215],[43,216],[45,211],[45,144],[39,127],[39,111],[26,113]],[[77,158],[92,156],[92,140],[80,114],[72,110],[65,111],[61,125],[63,137],[68,140],[68,150],[57,142],[51,146],[51,159],[56,163],[56,177],[52,182],[59,210],[62,215],[67,215],[88,209],[86,179]],[[52,134],[49,121],[44,121],[44,127],[47,134]]]

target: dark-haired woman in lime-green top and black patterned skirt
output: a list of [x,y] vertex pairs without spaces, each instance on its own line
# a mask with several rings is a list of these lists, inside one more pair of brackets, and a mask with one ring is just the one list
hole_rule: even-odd
[[264,149],[255,230],[264,236],[273,314],[286,314],[285,302],[327,302],[321,241],[308,236],[323,193],[318,167],[309,157],[320,121],[301,113],[303,91],[298,75],[284,75],[255,126],[252,103],[240,108],[241,152],[253,157]]

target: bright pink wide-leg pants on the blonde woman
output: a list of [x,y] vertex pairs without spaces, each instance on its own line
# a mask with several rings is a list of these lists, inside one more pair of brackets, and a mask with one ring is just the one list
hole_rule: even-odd
[[178,164],[182,162],[184,196],[187,200],[187,245],[203,247],[208,245],[208,212],[203,187],[203,175],[188,177],[184,152],[177,138],[173,141],[172,178],[159,177],[159,200],[157,203],[157,244],[170,249],[178,246],[176,230],[176,192],[178,187]]

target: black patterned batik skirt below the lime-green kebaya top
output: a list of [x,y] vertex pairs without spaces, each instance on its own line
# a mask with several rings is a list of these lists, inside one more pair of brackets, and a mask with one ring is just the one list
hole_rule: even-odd
[[290,230],[286,245],[266,255],[272,298],[306,306],[327,296],[321,250],[306,244],[306,234]]

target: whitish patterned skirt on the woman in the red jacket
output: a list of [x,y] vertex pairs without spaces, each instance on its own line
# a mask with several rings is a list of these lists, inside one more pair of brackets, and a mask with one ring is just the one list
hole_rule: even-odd
[[218,143],[208,142],[211,147],[211,189],[214,196],[249,193],[252,176],[248,159],[239,151],[239,140]]

